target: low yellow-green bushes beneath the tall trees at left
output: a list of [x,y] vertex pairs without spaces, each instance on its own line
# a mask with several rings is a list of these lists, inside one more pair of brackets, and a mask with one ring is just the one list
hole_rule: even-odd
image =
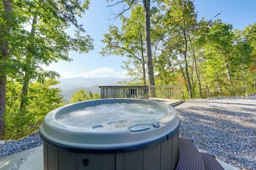
[[5,139],[19,139],[38,130],[44,116],[55,108],[62,106],[60,89],[52,88],[59,83],[54,79],[44,83],[32,82],[28,92],[26,109],[19,110],[22,85],[19,82],[7,81],[6,92],[6,126]]

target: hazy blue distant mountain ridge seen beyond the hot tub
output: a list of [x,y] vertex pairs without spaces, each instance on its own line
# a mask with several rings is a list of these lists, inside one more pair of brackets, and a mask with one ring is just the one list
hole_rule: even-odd
[[62,91],[62,95],[65,101],[69,101],[71,94],[74,94],[77,90],[83,88],[85,91],[92,91],[93,93],[100,93],[99,86],[117,86],[120,85],[118,81],[131,81],[133,78],[66,78],[59,79],[60,84],[58,87]]

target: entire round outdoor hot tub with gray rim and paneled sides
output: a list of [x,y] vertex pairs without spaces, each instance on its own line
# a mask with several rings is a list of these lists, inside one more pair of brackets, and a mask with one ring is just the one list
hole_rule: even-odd
[[169,105],[99,99],[55,109],[39,133],[44,169],[170,170],[179,158],[180,119]]

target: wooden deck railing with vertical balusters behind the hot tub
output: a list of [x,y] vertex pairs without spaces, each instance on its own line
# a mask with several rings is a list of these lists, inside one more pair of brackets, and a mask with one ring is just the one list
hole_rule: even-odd
[[100,86],[100,97],[105,98],[165,98],[181,99],[181,86]]

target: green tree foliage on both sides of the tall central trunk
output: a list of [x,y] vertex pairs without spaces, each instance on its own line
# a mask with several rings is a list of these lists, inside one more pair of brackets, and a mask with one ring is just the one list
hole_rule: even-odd
[[[256,23],[234,30],[231,24],[216,18],[220,14],[210,21],[198,19],[191,0],[154,2],[158,6],[151,9],[150,18],[156,84],[181,85],[184,99],[255,94]],[[140,57],[146,56],[146,48],[139,39],[145,29],[145,4],[128,0],[120,3],[131,8],[131,15],[126,18],[122,11],[118,13],[123,25],[109,27],[102,40],[106,44],[102,54],[128,57],[123,69],[135,77],[136,84],[143,84],[145,63],[141,64]],[[141,40],[145,39],[142,35]]]

